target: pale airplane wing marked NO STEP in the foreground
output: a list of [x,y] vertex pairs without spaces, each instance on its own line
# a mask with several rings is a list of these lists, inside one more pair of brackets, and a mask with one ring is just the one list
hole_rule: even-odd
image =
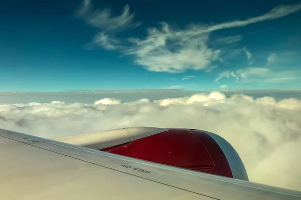
[[301,199],[301,192],[0,129],[0,199]]

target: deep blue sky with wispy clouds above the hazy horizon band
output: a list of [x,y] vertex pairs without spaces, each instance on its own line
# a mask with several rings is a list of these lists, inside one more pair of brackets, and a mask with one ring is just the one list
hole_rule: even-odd
[[0,6],[0,92],[301,89],[300,1]]

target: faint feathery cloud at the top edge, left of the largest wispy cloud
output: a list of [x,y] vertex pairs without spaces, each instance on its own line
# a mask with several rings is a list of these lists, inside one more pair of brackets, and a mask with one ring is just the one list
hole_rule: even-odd
[[83,18],[90,26],[104,31],[121,31],[128,28],[136,28],[140,23],[133,22],[134,13],[130,13],[129,6],[123,8],[122,14],[112,17],[111,10],[93,11],[90,0],[84,0],[77,12],[78,17]]

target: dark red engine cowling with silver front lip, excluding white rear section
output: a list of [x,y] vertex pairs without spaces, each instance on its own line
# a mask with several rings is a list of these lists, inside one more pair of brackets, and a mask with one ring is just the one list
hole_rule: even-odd
[[245,167],[235,149],[225,139],[208,131],[168,128],[164,132],[100,150],[248,180]]

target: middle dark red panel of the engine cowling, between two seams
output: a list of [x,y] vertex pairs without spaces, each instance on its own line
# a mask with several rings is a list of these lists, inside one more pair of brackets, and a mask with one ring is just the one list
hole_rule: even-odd
[[202,143],[187,130],[170,130],[131,142],[139,159],[199,170],[214,163]]

